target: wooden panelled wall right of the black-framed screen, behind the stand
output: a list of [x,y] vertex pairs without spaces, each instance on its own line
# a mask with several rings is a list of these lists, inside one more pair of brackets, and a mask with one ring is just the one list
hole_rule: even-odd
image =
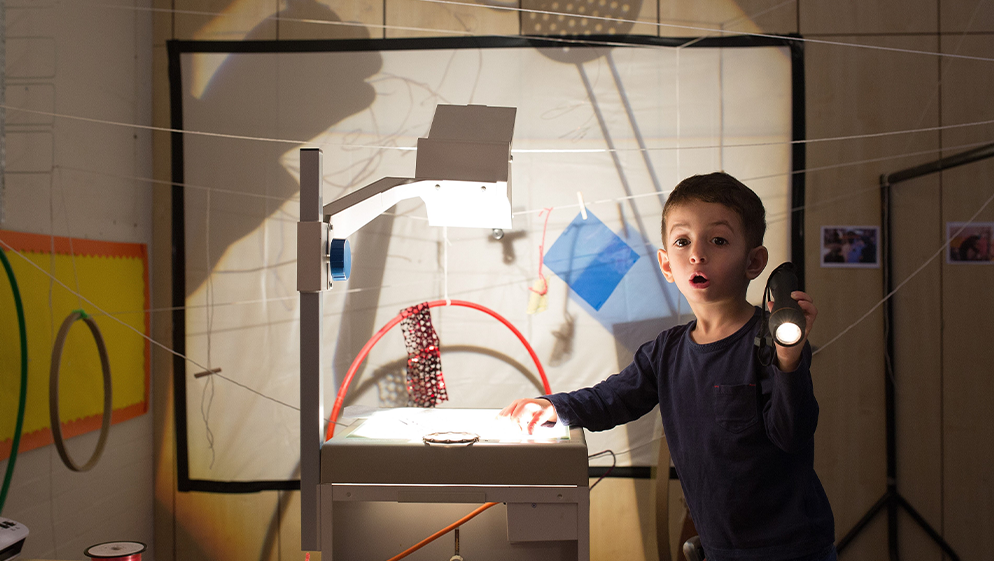
[[[989,8],[983,3],[922,0],[811,2],[801,6],[800,30],[805,37],[817,40],[990,58]],[[990,104],[981,101],[984,96],[980,94],[992,85],[991,62],[811,44],[806,61],[809,138],[991,119]],[[811,172],[808,193],[810,197],[821,197],[823,192],[872,188],[881,173],[952,155],[962,151],[954,147],[970,142],[992,140],[994,128],[986,126],[849,141],[835,148],[835,143],[813,144],[808,150],[809,169],[844,161],[888,159]],[[938,148],[946,149],[931,152]],[[915,154],[918,152],[921,153]],[[900,154],[914,155],[890,158]],[[987,413],[989,408],[980,403],[980,396],[990,389],[986,373],[990,371],[991,357],[984,342],[990,332],[987,318],[991,301],[980,296],[976,288],[969,288],[989,284],[990,273],[983,266],[948,265],[945,252],[927,265],[925,261],[945,242],[947,220],[968,219],[994,193],[992,169],[989,162],[971,164],[902,183],[893,191],[894,282],[898,284],[917,272],[893,301],[898,490],[963,559],[989,556],[989,544],[994,539],[988,444],[994,422]],[[879,218],[874,215],[875,208],[879,208],[877,197],[878,193],[871,190],[862,199],[853,198],[849,209],[809,214],[808,250],[817,248],[817,228],[821,224],[878,224]],[[809,199],[809,203],[815,200]],[[978,220],[992,220],[991,216],[984,213]],[[856,271],[840,275],[822,270],[816,274],[811,268],[817,266],[813,259],[809,256],[808,278],[809,284],[815,284],[809,287],[817,287],[818,292],[836,300],[833,315],[852,317],[869,309],[867,304],[872,302],[868,301],[874,299],[868,293],[879,290],[877,277],[866,278]],[[880,296],[878,292],[877,298]],[[880,318],[881,314],[875,313],[864,322],[872,322],[874,327],[853,330],[867,342],[854,341],[853,332],[839,341],[848,341],[843,344],[845,350],[834,349],[845,355],[834,358],[840,377],[821,381],[838,385],[830,391],[840,398],[838,406],[829,411],[825,408],[831,405],[822,399],[823,422],[827,414],[835,426],[851,425],[825,431],[822,424],[818,436],[820,459],[816,461],[830,488],[839,536],[883,494],[886,485],[884,371],[878,354],[882,348],[876,344],[883,339]],[[816,344],[836,330],[827,331],[815,337]],[[826,351],[826,358],[835,357],[832,351]],[[819,375],[824,374],[820,366],[818,370]],[[822,395],[820,392],[819,397]],[[861,414],[863,419],[854,420]],[[841,451],[836,444],[827,442],[836,438],[850,442],[850,447],[855,444],[861,452],[837,458],[832,458],[831,452],[821,453]],[[838,465],[832,465],[829,471],[829,464]],[[987,466],[987,475],[981,466]],[[843,475],[845,470],[851,475]],[[858,477],[854,477],[856,474]],[[840,558],[848,561],[885,557],[885,520],[883,515],[874,519]],[[898,535],[902,559],[945,558],[905,514],[900,516]]]

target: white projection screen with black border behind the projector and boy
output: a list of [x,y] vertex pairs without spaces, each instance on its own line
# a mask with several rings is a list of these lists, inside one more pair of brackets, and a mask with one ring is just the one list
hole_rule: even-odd
[[[174,369],[181,490],[299,486],[302,147],[323,150],[330,202],[382,177],[413,177],[413,147],[437,104],[517,108],[513,228],[500,240],[490,230],[430,227],[418,199],[350,238],[352,277],[324,295],[326,414],[369,338],[400,310],[446,294],[513,323],[553,391],[618,372],[641,343],[693,319],[655,256],[662,204],[693,174],[724,170],[759,193],[767,272],[803,264],[792,235],[801,214],[790,212],[803,202],[803,174],[792,173],[803,168],[803,146],[792,144],[803,139],[799,47],[777,38],[612,41],[170,43],[173,126],[185,131],[173,133],[174,343],[197,363],[177,358]],[[584,256],[613,254],[563,237],[574,221],[601,242],[623,242],[610,251],[630,248],[617,275],[582,275]],[[558,272],[549,263],[540,271],[540,258],[556,252],[573,256],[570,269],[560,261]],[[530,288],[542,276],[547,307],[530,314]],[[752,284],[754,303],[765,282]],[[449,396],[440,407],[496,409],[543,393],[504,325],[467,308],[431,315]],[[395,328],[359,370],[346,415],[406,406],[406,360]],[[203,367],[219,376],[197,377]],[[653,412],[587,436],[591,453],[612,449],[619,466],[647,472],[662,428]]]

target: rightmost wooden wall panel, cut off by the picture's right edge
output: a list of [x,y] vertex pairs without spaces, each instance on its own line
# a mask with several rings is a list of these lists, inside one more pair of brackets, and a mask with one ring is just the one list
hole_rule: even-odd
[[[991,30],[990,7],[977,7],[974,24]],[[969,21],[967,13],[973,11],[964,10],[962,19],[956,19]],[[950,34],[943,37],[942,50],[992,59],[994,35]],[[943,124],[994,119],[989,93],[983,93],[994,88],[992,65],[966,59],[943,61]],[[943,146],[992,141],[994,127],[990,125],[942,134]],[[943,222],[965,221],[994,196],[994,160],[949,170],[942,174],[941,185]],[[994,202],[976,220],[994,222]],[[943,530],[963,559],[984,559],[994,550],[994,408],[988,399],[994,395],[991,286],[994,269],[989,265],[942,265]]]

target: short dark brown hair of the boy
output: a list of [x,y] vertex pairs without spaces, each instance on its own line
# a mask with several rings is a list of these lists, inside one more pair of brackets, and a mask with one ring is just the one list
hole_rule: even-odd
[[718,203],[734,210],[745,226],[750,248],[763,245],[766,234],[766,208],[759,195],[723,171],[694,175],[681,181],[663,205],[662,235],[666,245],[666,215],[676,205],[690,201]]

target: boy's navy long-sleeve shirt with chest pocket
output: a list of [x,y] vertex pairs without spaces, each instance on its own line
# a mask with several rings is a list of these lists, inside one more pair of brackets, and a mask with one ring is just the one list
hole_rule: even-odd
[[603,382],[546,396],[561,422],[599,431],[659,404],[666,442],[708,561],[821,560],[835,539],[814,471],[818,403],[805,343],[794,372],[764,367],[754,340],[762,314],[733,335],[698,344],[696,322],[642,345]]

